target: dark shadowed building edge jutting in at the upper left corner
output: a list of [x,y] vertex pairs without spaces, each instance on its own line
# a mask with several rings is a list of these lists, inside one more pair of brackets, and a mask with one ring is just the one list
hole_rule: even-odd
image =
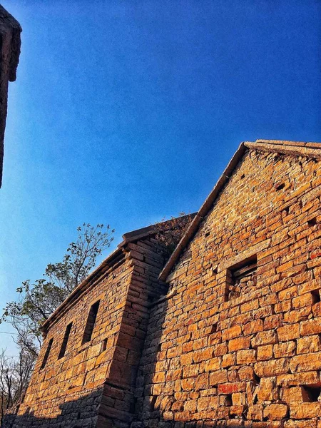
[[19,22],[0,5],[0,188],[4,161],[8,83],[16,80],[21,46],[20,33]]

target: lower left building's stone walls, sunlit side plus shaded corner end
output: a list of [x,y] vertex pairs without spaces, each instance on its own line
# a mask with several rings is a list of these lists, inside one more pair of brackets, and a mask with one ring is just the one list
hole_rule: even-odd
[[[158,280],[164,248],[153,235],[126,243],[118,253],[46,325],[26,397],[9,412],[5,428],[130,426],[149,304],[167,286]],[[88,313],[98,300],[91,340],[83,344]],[[71,322],[66,353],[59,358]]]

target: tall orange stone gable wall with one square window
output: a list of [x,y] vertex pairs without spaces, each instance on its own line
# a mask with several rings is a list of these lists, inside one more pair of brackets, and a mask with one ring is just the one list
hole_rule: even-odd
[[133,428],[321,427],[320,183],[312,158],[245,154],[151,311]]

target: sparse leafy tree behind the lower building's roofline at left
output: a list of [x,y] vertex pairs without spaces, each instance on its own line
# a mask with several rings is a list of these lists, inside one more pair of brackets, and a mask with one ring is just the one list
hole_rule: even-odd
[[62,262],[49,263],[43,278],[32,284],[26,280],[17,288],[19,298],[7,303],[0,322],[10,322],[16,328],[21,347],[37,355],[41,325],[88,276],[98,255],[111,245],[113,232],[109,225],[104,228],[99,224],[95,228],[83,223],[77,228],[77,239],[68,245]]

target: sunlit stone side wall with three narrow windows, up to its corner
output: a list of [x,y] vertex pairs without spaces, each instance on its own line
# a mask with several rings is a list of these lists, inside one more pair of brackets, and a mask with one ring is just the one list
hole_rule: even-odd
[[[76,304],[49,328],[14,427],[44,426],[44,418],[56,418],[52,427],[60,427],[63,420],[63,426],[69,426],[66,421],[81,427],[93,426],[101,389],[111,370],[130,277],[128,262],[121,263],[89,287]],[[88,312],[97,300],[100,300],[100,305],[91,341],[82,345]],[[58,359],[70,322],[73,325],[66,355]],[[53,345],[49,358],[41,369],[51,339]],[[104,340],[107,341],[105,351]],[[61,414],[63,417],[60,418]]]

